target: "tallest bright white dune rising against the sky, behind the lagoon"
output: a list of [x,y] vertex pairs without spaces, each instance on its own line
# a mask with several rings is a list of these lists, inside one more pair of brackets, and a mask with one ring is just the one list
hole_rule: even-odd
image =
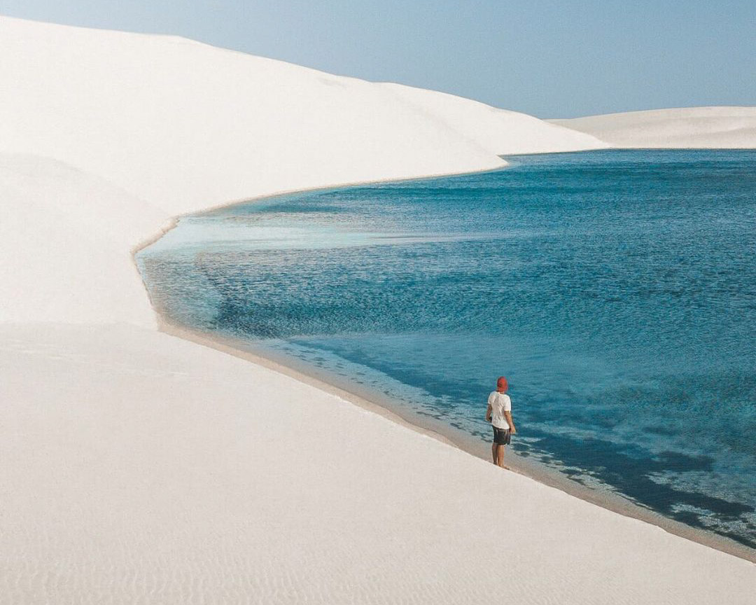
[[[168,36],[0,17],[0,54],[0,151],[63,160],[169,213],[496,168],[504,165],[496,154],[531,148],[528,127],[539,150],[548,148],[542,131],[559,133],[559,150],[598,144],[475,101]],[[491,116],[485,128],[448,119],[466,107]],[[510,125],[523,147],[510,141]]]

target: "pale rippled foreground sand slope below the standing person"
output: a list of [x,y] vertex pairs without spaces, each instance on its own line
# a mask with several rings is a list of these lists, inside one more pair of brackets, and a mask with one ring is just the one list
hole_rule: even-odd
[[0,603],[752,603],[745,560],[221,352],[0,343]]

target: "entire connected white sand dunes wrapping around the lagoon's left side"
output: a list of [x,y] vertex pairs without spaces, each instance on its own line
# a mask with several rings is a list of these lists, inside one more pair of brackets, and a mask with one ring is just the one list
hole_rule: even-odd
[[171,37],[0,17],[0,57],[0,603],[751,603],[745,560],[156,331],[132,263],[176,213],[595,139]]

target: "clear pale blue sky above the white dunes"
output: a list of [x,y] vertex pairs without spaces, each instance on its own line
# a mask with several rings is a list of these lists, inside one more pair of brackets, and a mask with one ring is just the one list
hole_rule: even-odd
[[756,104],[756,0],[0,0],[572,117]]

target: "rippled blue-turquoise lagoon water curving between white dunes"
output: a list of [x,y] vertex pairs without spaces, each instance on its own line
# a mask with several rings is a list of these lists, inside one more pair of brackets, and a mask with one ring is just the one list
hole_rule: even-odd
[[175,323],[339,375],[756,548],[756,152],[495,172],[191,216],[138,255]]

